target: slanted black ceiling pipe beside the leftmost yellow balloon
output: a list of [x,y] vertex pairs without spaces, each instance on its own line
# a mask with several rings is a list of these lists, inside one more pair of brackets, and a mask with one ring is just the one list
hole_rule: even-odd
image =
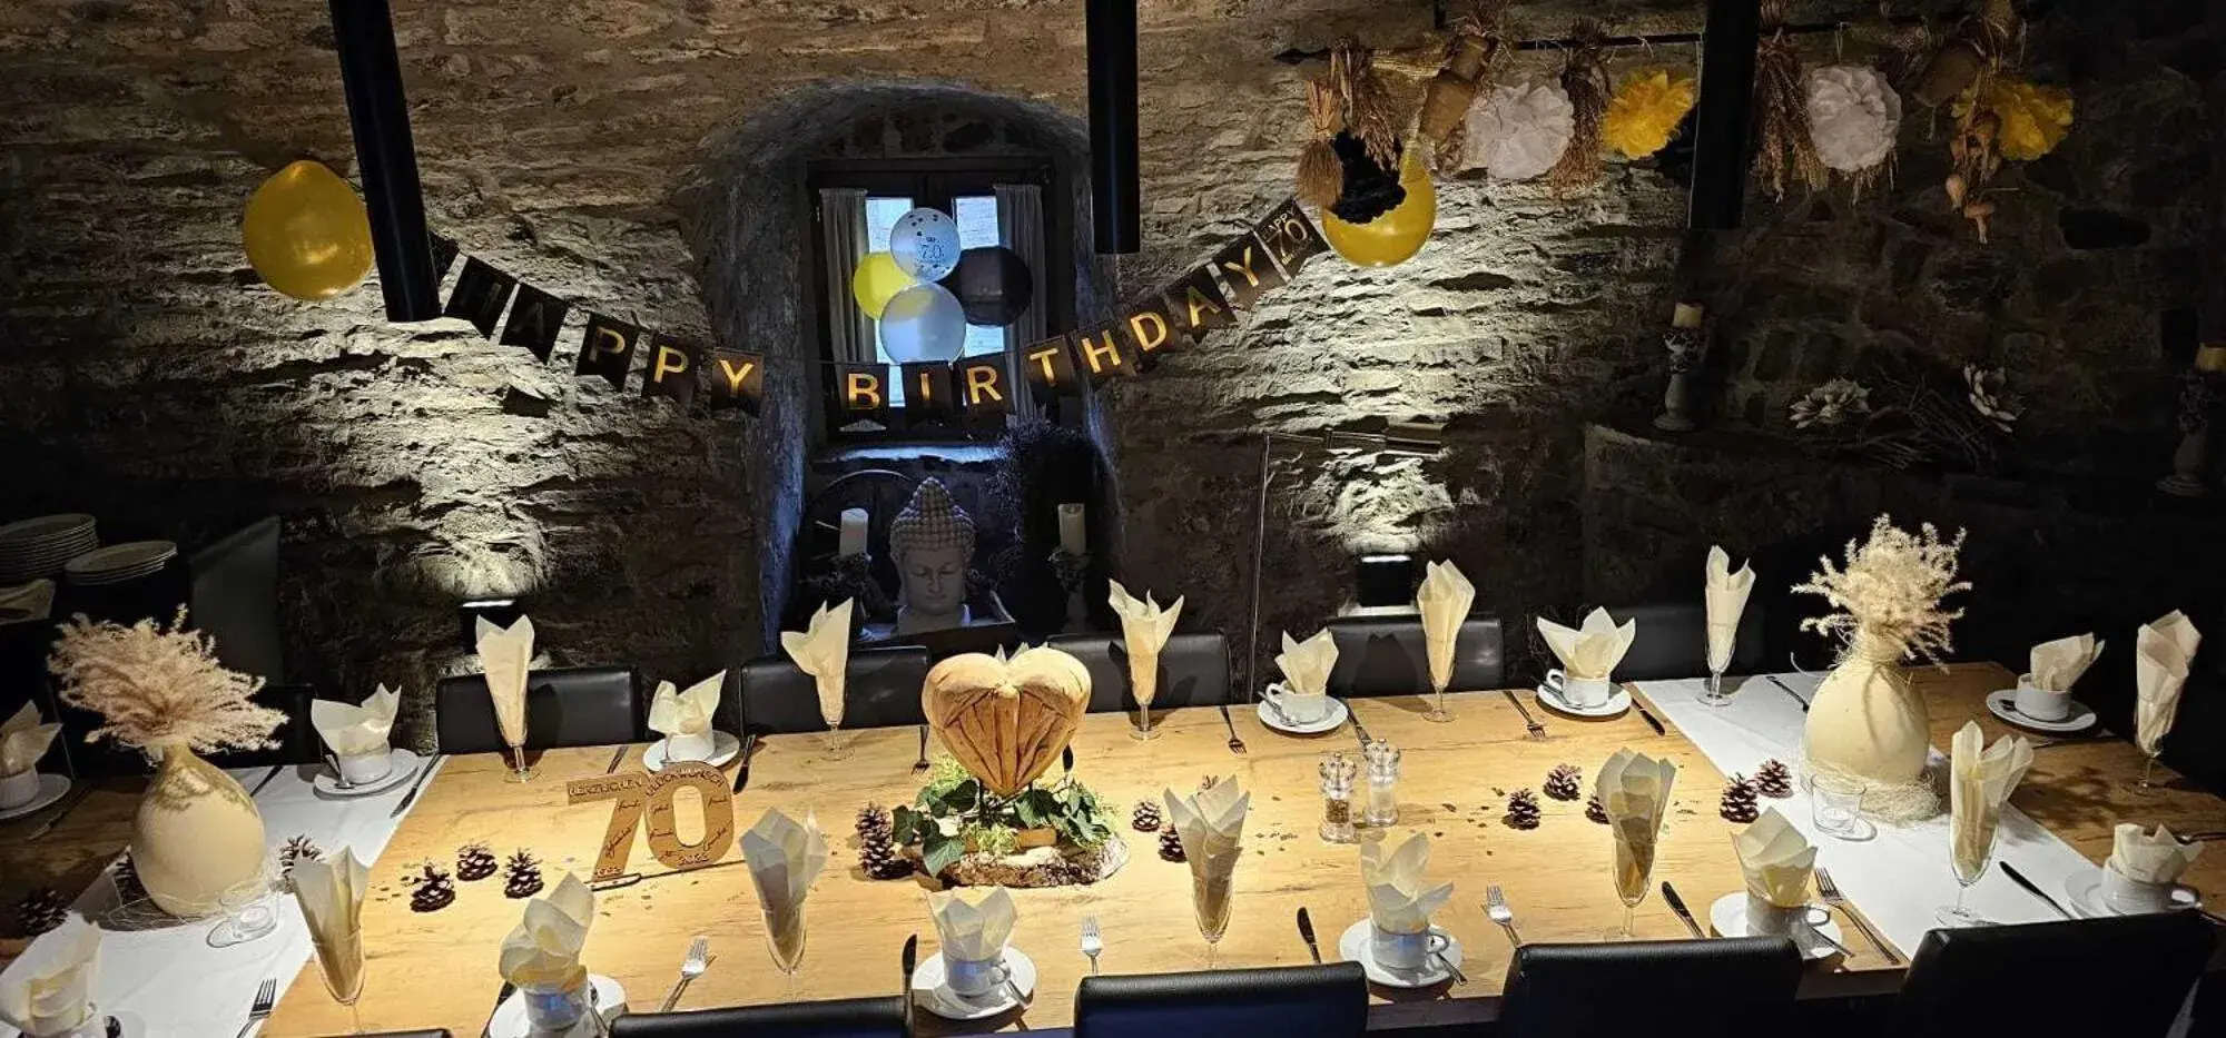
[[394,16],[387,0],[332,0],[332,38],[341,49],[341,87],[347,123],[356,131],[356,169],[372,212],[372,249],[387,321],[441,316],[441,285],[425,236],[425,194],[410,143],[410,105],[403,67],[394,53]]

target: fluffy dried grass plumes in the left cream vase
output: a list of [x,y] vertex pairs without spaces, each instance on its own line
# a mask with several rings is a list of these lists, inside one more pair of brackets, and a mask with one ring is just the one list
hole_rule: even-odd
[[185,630],[185,610],[167,628],[151,619],[131,626],[62,624],[62,639],[47,668],[62,682],[62,702],[105,719],[87,735],[125,746],[183,742],[194,753],[278,748],[269,735],[285,713],[256,706],[260,677],[225,670],[216,642]]

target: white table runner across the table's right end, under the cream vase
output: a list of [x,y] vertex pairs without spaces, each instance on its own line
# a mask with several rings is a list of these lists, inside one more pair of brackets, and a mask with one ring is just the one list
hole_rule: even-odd
[[[1776,675],[1776,679],[1810,699],[1823,675]],[[1638,682],[1638,691],[1725,775],[1752,777],[1772,757],[1799,764],[1801,724],[1808,719],[1801,704],[1770,684],[1770,677],[1725,677],[1723,684],[1732,693],[1730,706],[1698,702],[1707,691],[1705,679]],[[1912,826],[1881,824],[1877,838],[1850,842],[1816,831],[1808,793],[1799,784],[1792,800],[1763,800],[1763,804],[1776,806],[1816,844],[1816,864],[1832,871],[1841,893],[1854,900],[1903,956],[1917,949],[1925,931],[1939,927],[1934,913],[1954,904],[1957,880],[1948,866],[1946,813]],[[2070,898],[2064,884],[2077,873],[2095,871],[2095,862],[2015,806],[2001,815],[1994,862],[2017,864],[2017,871],[2066,907]],[[1963,904],[1994,922],[2061,918],[2003,875],[2001,864],[1988,866]]]

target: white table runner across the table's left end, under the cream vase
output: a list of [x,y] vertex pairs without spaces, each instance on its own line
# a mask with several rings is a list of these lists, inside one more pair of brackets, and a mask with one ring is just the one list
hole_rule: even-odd
[[[439,771],[439,762],[434,764]],[[269,768],[234,768],[232,777],[254,789]],[[401,826],[394,804],[410,791],[401,782],[367,797],[327,797],[312,786],[314,768],[287,766],[256,795],[263,831],[272,851],[289,838],[307,835],[318,849],[338,853],[347,846],[365,864],[376,862]],[[427,777],[432,782],[432,777]],[[407,811],[405,811],[407,815]],[[96,882],[76,909],[100,922],[116,904],[116,889]],[[105,1013],[129,1013],[145,1025],[147,1038],[227,1038],[247,1022],[247,1007],[265,978],[278,980],[285,993],[294,976],[309,962],[309,931],[292,895],[274,898],[278,929],[260,940],[227,949],[209,947],[214,922],[169,924],[162,929],[116,931],[100,936],[100,980],[93,1005]],[[13,969],[13,967],[11,967]],[[314,967],[312,967],[314,969]],[[0,973],[0,982],[7,973]],[[316,978],[307,978],[312,985]],[[0,1034],[16,1038],[13,1027]]]

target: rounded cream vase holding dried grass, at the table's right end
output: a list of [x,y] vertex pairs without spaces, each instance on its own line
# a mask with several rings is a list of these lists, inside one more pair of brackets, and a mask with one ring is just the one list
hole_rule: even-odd
[[1803,733],[1808,760],[1874,786],[1905,786],[1925,771],[1925,702],[1901,673],[1901,646],[1856,630],[1816,686]]

